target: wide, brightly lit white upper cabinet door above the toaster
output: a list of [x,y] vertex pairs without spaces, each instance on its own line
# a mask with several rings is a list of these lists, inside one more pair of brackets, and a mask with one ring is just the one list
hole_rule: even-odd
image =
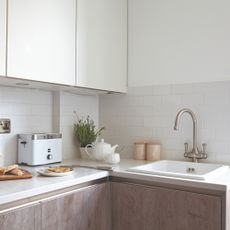
[[74,85],[76,0],[9,0],[7,76]]

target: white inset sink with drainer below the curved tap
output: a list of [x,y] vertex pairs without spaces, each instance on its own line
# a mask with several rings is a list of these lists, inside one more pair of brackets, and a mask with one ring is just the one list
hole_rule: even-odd
[[228,165],[161,160],[130,168],[127,171],[168,177],[207,180],[218,177],[228,170]]

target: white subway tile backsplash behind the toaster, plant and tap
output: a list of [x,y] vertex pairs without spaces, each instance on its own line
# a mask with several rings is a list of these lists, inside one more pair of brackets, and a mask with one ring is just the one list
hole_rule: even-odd
[[198,144],[207,143],[204,161],[230,164],[230,82],[131,87],[127,94],[100,98],[65,92],[57,96],[54,100],[48,91],[0,87],[0,116],[12,122],[12,132],[0,135],[6,164],[16,161],[16,134],[25,132],[60,131],[64,159],[79,156],[74,110],[79,117],[90,115],[96,125],[105,126],[102,136],[124,147],[123,158],[133,157],[135,141],[159,140],[162,159],[183,160],[184,142],[192,145],[191,117],[185,114],[179,131],[173,130],[175,116],[183,107],[197,116]]

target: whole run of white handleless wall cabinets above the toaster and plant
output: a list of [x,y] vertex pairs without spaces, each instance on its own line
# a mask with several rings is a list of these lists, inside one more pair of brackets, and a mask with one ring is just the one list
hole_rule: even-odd
[[126,91],[127,0],[9,0],[7,29],[8,77]]

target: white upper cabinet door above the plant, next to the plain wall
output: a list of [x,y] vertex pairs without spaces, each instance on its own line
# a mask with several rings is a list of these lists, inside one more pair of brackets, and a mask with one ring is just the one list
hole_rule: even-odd
[[127,0],[77,1],[76,85],[125,92]]

